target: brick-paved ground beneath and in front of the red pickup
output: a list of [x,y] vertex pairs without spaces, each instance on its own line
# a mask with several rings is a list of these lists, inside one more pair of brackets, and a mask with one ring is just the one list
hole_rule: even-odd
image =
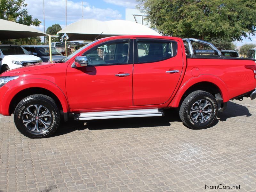
[[[0,116],[0,191],[256,191],[256,101],[232,101],[216,125],[165,117],[70,121],[28,139]],[[235,191],[221,189],[219,191]]]

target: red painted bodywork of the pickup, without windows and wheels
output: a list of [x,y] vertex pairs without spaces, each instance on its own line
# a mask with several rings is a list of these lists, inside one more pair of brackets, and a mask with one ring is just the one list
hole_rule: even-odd
[[[160,38],[178,42],[177,55],[153,63],[87,66],[72,68],[76,56],[106,41],[124,38]],[[1,76],[19,76],[0,88],[0,114],[11,115],[10,103],[20,91],[40,87],[60,100],[64,112],[85,112],[139,108],[176,108],[189,87],[211,82],[223,102],[256,87],[252,60],[187,59],[183,41],[165,36],[115,36],[98,40],[77,52],[66,63],[42,63],[7,71]],[[194,69],[193,69],[194,68]],[[198,68],[199,71],[195,68]],[[179,73],[165,73],[179,70]],[[192,72],[191,72],[192,71]],[[130,73],[117,77],[116,74]]]

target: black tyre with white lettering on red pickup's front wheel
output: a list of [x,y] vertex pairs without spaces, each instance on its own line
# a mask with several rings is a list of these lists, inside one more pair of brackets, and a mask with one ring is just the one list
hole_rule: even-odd
[[[42,117],[42,118],[48,119],[48,124],[47,124],[47,126],[45,125],[45,127],[42,128],[42,131],[39,130],[39,127],[38,127],[37,132],[36,132],[36,130],[33,131],[33,129],[30,130],[30,129],[28,129],[28,127],[26,127],[25,122],[24,122],[24,118],[28,117],[27,109],[29,108],[29,112],[32,113],[34,106],[39,106],[39,107],[42,106],[41,109],[42,108],[47,109],[49,111],[48,114],[50,114],[50,115],[47,115],[48,118],[47,117]],[[31,107],[32,107],[32,111],[30,111]],[[34,110],[34,112],[35,111],[37,111],[37,108]],[[40,111],[40,108],[39,108],[38,111]],[[34,113],[34,115],[35,114],[36,114],[36,112]],[[41,116],[43,116],[45,114],[46,113],[43,113],[43,114],[41,114]],[[37,121],[38,126],[39,126],[40,119],[45,120],[45,119],[39,118],[39,115],[37,115],[35,117],[30,116],[30,118],[31,119],[35,118],[34,122]],[[38,118],[38,120],[36,120],[36,118]],[[25,119],[25,120],[27,120],[27,119]],[[22,99],[19,102],[19,104],[17,105],[17,107],[15,108],[14,123],[15,123],[17,129],[20,131],[20,133],[22,133],[23,135],[25,135],[29,138],[49,137],[50,135],[52,135],[54,132],[57,131],[57,129],[60,125],[60,111],[59,111],[55,101],[51,97],[46,96],[46,95],[41,95],[41,94],[30,95],[30,96]],[[31,124],[32,124],[31,127],[33,127],[33,122]],[[44,124],[42,124],[42,122],[41,122],[41,126],[43,126],[43,125]],[[45,129],[45,130],[43,130],[43,129]]]

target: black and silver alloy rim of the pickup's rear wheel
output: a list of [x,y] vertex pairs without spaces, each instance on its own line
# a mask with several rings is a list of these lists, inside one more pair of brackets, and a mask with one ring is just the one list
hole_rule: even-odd
[[212,116],[212,105],[208,100],[196,101],[190,110],[191,119],[195,123],[205,123]]

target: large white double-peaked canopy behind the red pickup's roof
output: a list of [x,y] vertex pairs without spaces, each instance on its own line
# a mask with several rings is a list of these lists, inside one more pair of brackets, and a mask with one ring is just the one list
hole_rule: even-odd
[[118,35],[157,35],[159,33],[144,25],[126,21],[126,20],[110,20],[99,21],[94,19],[84,19],[71,23],[67,27],[58,32],[66,33],[68,41],[72,40],[94,40],[99,38],[118,36]]

